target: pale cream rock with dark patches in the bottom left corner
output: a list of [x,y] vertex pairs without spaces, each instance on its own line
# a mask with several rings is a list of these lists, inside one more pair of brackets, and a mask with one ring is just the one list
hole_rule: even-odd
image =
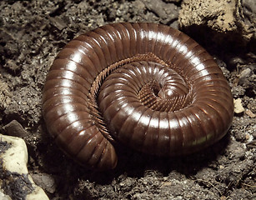
[[2,199],[48,200],[28,174],[28,151],[21,138],[0,134],[0,197]]

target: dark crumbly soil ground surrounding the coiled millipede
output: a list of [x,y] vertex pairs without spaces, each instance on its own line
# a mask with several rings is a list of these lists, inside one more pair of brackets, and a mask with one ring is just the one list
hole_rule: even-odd
[[[0,133],[25,140],[29,173],[50,199],[256,199],[255,41],[236,47],[197,38],[216,58],[245,109],[235,113],[228,134],[202,152],[156,158],[120,148],[118,167],[98,173],[64,156],[46,130],[43,84],[68,41],[114,22],[178,28],[181,2],[163,1],[157,9],[153,1],[143,0],[0,2]],[[12,192],[13,199],[22,199]]]

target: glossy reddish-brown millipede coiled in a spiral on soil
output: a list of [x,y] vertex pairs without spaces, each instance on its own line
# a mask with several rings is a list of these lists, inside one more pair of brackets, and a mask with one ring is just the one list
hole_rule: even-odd
[[216,62],[183,32],[154,23],[113,23],[76,37],[43,88],[48,132],[90,168],[115,168],[114,142],[172,156],[227,133],[233,97]]

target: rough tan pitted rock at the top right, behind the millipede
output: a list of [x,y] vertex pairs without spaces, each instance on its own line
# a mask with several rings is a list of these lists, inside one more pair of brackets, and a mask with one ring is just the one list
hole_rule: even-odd
[[[243,7],[247,7],[246,15]],[[241,0],[184,0],[179,13],[179,25],[181,28],[200,26],[221,33],[215,34],[212,38],[214,42],[221,43],[224,39],[234,41],[239,37],[243,41],[238,42],[246,43],[256,38],[256,18],[248,19],[249,15],[255,15],[250,7],[253,7],[253,2],[250,4],[245,1],[242,4]]]

